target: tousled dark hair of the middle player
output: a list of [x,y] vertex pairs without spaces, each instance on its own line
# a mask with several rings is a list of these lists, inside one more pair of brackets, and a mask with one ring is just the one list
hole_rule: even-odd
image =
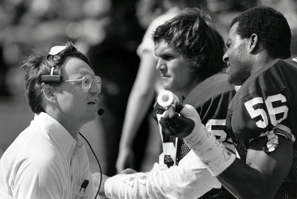
[[186,8],[158,26],[153,33],[155,45],[166,42],[187,58],[197,57],[200,67],[193,67],[196,78],[204,80],[226,66],[222,57],[224,40],[212,17],[204,9]]

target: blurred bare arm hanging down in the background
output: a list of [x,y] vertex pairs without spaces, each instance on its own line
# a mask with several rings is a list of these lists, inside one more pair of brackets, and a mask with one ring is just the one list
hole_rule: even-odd
[[157,60],[152,55],[152,52],[144,51],[141,56],[137,77],[128,99],[116,163],[118,172],[131,167],[131,164],[127,162],[127,156],[131,155],[133,141],[140,124],[148,113],[155,93],[154,84],[158,76],[160,76],[155,68],[156,64]]

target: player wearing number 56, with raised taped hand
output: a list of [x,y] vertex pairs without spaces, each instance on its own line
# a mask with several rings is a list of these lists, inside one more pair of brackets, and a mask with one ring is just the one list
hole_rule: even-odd
[[160,120],[166,134],[182,134],[237,198],[297,197],[297,58],[288,59],[290,44],[286,18],[270,7],[251,8],[231,22],[223,60],[229,83],[241,87],[229,105],[226,126],[239,158],[201,124],[191,106],[175,103],[192,120],[179,117],[174,107]]

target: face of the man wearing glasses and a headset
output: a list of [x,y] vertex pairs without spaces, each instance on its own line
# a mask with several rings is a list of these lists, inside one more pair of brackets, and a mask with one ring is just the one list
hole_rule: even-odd
[[[68,56],[62,65],[63,80],[82,79],[94,75],[93,70],[82,59]],[[59,115],[73,123],[86,124],[97,118],[97,100],[100,89],[93,81],[89,90],[82,88],[81,81],[63,82],[62,93],[57,93]]]

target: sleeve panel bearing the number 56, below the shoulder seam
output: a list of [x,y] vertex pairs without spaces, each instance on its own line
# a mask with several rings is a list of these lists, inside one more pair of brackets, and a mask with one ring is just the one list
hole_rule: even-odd
[[268,134],[278,134],[294,140],[290,109],[292,107],[286,90],[255,92],[236,105],[231,125],[245,146],[250,140]]

